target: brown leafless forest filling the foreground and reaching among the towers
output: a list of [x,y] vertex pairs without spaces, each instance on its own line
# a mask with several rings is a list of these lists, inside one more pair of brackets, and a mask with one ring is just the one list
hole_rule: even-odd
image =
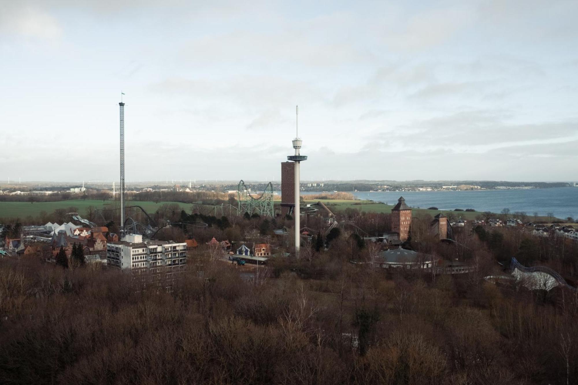
[[[390,227],[387,214],[339,215],[372,234]],[[169,279],[4,258],[0,383],[576,383],[576,292],[484,280],[516,257],[573,283],[576,243],[480,227],[457,231],[458,245],[444,245],[430,221],[414,218],[408,246],[474,264],[475,272],[351,264],[372,260],[379,247],[347,230],[327,250],[305,246],[299,260],[275,257],[259,273],[242,273],[205,245],[212,236],[254,235],[290,250],[271,236],[290,220],[262,217],[221,219],[197,231],[201,246],[187,270]]]

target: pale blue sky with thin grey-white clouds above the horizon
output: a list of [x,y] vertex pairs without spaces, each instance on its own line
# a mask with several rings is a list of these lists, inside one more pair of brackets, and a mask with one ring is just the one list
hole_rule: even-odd
[[578,2],[0,0],[0,181],[578,179]]

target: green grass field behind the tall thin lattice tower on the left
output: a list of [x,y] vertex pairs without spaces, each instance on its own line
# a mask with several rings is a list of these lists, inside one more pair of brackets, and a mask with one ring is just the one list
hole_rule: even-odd
[[[88,206],[94,206],[97,209],[105,208],[105,205],[110,205],[112,201],[94,201],[91,199],[73,199],[71,201],[60,201],[60,202],[0,202],[0,219],[2,218],[26,218],[28,216],[38,217],[40,212],[45,211],[47,213],[52,213],[55,209],[67,209],[69,207],[75,207],[78,209],[80,216],[84,216],[86,208]],[[180,203],[180,202],[142,202],[142,201],[128,201],[127,206],[138,205],[141,206],[147,213],[154,214],[155,211],[163,203],[177,203],[181,209],[185,210],[187,213],[191,212],[190,203]]]

